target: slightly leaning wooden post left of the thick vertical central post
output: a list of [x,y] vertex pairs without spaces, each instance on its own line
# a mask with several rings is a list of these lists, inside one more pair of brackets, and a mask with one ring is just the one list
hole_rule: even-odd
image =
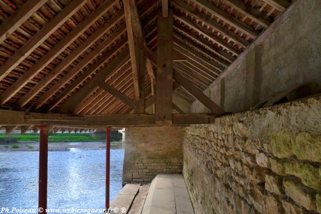
[[123,0],[128,35],[129,53],[134,81],[134,112],[145,112],[144,72],[145,58],[144,38],[135,0]]

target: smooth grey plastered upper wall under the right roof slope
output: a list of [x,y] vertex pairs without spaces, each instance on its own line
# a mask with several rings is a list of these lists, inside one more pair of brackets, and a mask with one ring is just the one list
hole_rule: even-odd
[[[276,92],[305,84],[321,92],[320,0],[295,0],[206,90],[226,112],[240,112]],[[199,101],[191,112],[208,112]]]

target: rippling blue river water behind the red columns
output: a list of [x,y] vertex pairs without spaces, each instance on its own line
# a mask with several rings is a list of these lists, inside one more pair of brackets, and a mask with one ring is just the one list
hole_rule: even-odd
[[[71,143],[72,145],[85,143]],[[124,150],[110,150],[110,201],[121,190]],[[0,152],[0,208],[38,208],[38,151]],[[48,152],[48,208],[104,208],[105,149]]]

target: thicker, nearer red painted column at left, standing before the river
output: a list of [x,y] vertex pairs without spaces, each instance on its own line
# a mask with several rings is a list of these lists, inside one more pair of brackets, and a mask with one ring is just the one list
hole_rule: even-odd
[[[47,209],[47,182],[48,182],[48,130],[47,126],[39,126],[39,214],[45,213]],[[41,209],[42,208],[42,209]]]

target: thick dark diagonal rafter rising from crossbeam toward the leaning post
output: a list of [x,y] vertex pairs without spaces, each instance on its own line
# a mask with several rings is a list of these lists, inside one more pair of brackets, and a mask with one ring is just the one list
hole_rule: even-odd
[[84,85],[76,94],[67,100],[60,108],[60,112],[74,112],[86,98],[98,88],[98,82],[106,80],[110,75],[117,71],[122,65],[129,60],[128,48],[125,48],[118,54],[105,68],[96,74],[88,84]]

